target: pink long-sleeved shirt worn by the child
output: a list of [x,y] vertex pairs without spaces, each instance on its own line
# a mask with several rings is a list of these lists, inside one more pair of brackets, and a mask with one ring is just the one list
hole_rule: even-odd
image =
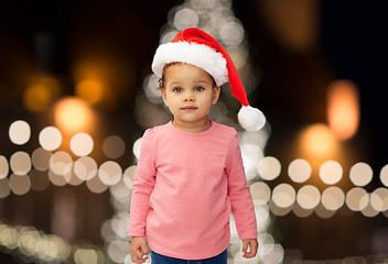
[[257,238],[237,132],[212,122],[201,133],[172,122],[147,130],[133,183],[129,235],[177,258],[215,256],[228,246],[233,213],[239,238]]

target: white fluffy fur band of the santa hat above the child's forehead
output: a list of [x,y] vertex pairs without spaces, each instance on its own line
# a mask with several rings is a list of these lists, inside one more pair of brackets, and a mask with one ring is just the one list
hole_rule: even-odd
[[152,62],[152,70],[162,76],[165,64],[181,62],[197,66],[213,76],[217,86],[228,81],[228,69],[224,56],[209,46],[197,43],[165,43],[158,47]]

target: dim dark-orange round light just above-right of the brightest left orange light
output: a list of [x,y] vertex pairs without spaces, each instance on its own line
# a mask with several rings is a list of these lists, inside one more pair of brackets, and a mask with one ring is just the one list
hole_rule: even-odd
[[75,87],[75,95],[90,105],[99,103],[104,97],[104,85],[97,79],[85,79]]

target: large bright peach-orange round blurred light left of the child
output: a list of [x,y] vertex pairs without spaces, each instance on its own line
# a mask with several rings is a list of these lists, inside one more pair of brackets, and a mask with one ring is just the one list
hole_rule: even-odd
[[89,106],[75,97],[58,101],[55,106],[54,118],[57,128],[67,133],[89,131],[94,123],[94,114]]

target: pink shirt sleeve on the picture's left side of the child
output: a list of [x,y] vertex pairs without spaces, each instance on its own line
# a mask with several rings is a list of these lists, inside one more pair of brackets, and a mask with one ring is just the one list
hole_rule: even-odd
[[129,213],[130,237],[146,235],[146,220],[150,210],[150,196],[155,185],[155,134],[153,130],[147,130],[141,143],[140,156]]

